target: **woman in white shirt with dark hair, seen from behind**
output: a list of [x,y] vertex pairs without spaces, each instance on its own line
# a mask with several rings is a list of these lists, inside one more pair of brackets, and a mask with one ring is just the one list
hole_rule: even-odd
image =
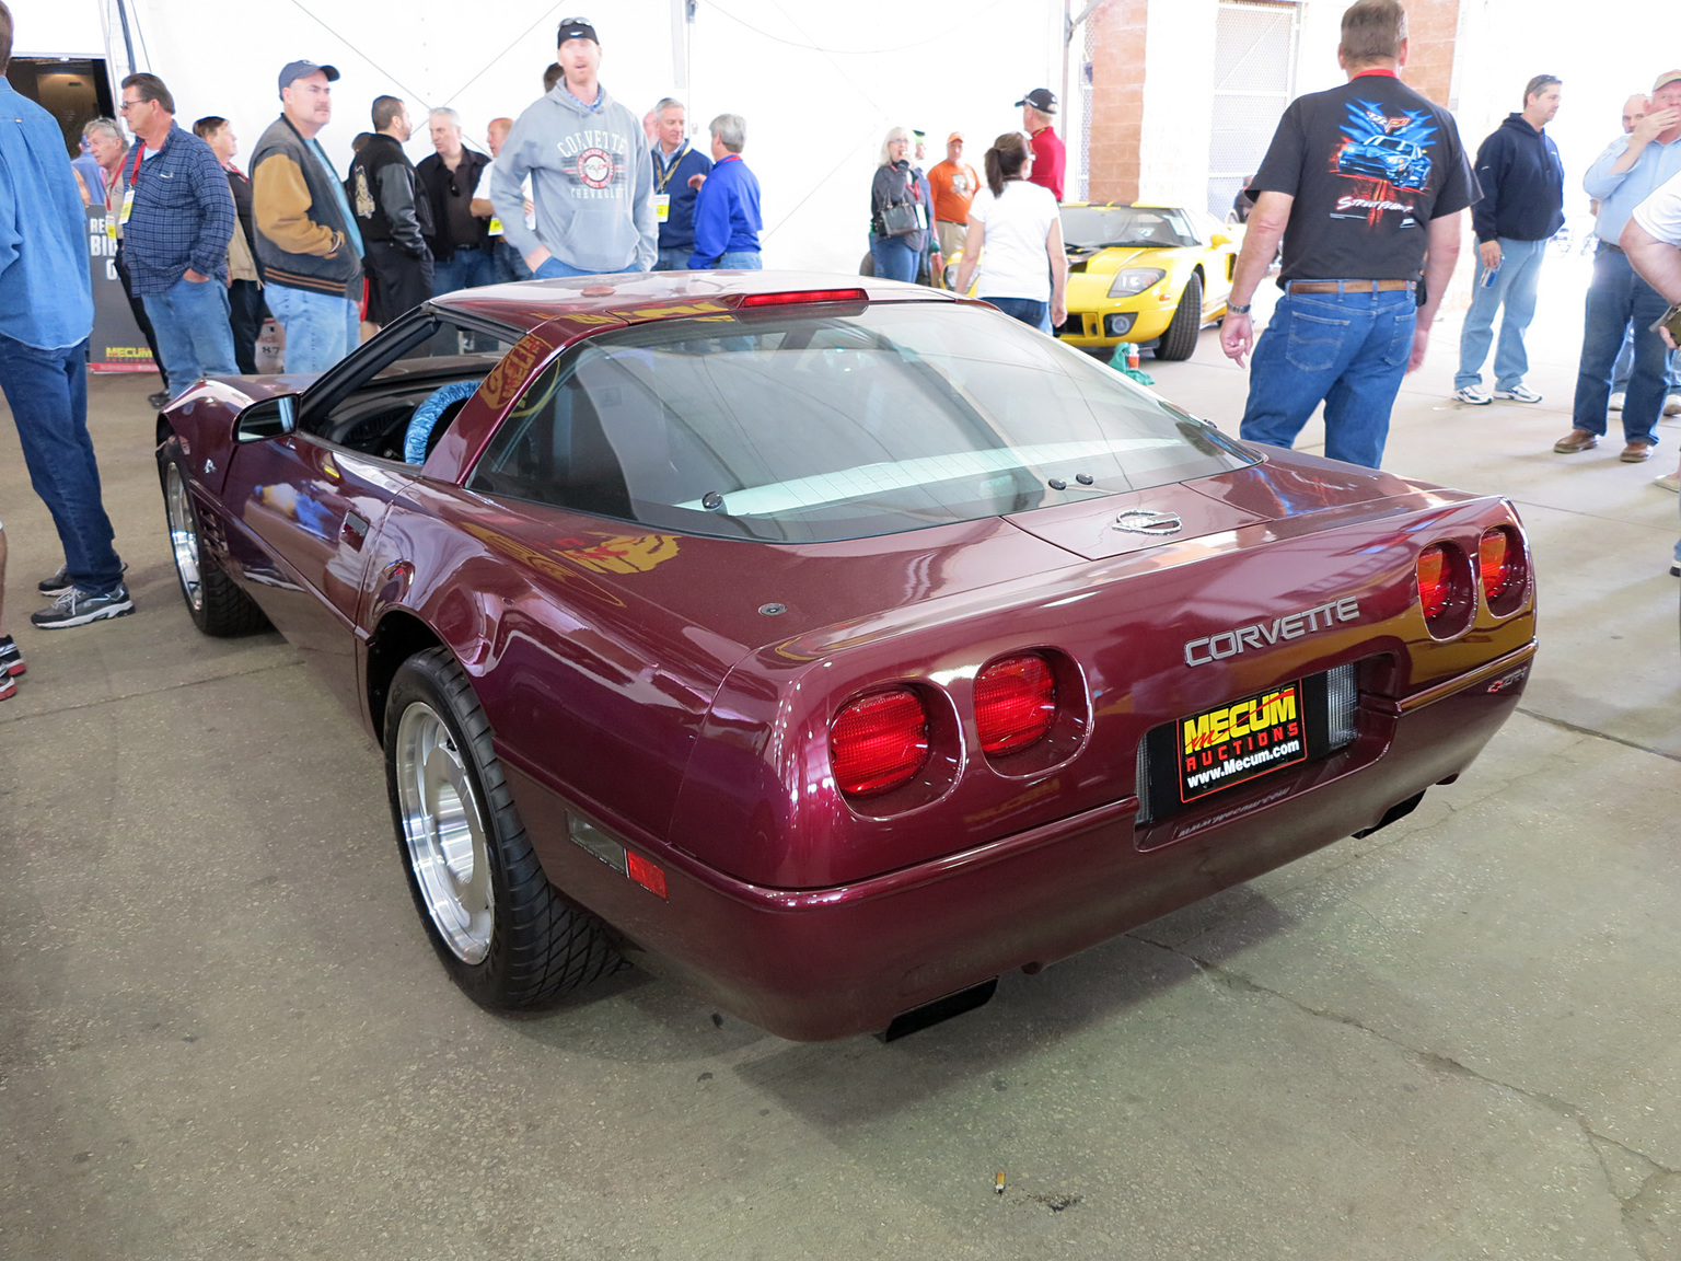
[[968,207],[956,293],[968,293],[978,272],[983,303],[1049,333],[1067,319],[1067,254],[1056,197],[1027,183],[1030,170],[1020,131],[1005,131],[987,150],[987,187]]

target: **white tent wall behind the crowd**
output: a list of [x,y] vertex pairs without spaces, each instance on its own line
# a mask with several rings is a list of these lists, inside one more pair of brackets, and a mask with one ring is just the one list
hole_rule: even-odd
[[[49,44],[76,32],[101,39],[99,3],[22,0],[18,49],[61,52]],[[1062,77],[1062,0],[699,0],[693,22],[682,0],[126,3],[136,62],[170,86],[182,123],[229,118],[242,155],[279,109],[284,62],[336,66],[343,79],[321,143],[340,170],[383,92],[408,101],[420,128],[408,143],[414,160],[432,151],[422,123],[430,106],[456,108],[482,146],[491,118],[536,99],[558,20],[582,10],[602,37],[602,82],[637,116],[662,96],[684,99],[701,146],[714,114],[746,119],[767,267],[856,271],[889,126],[925,129],[928,165],[945,156],[950,131],[963,131],[965,158],[980,170],[992,138],[1020,126],[1012,103],[1032,87],[1061,91]],[[121,39],[114,22],[111,39]]]

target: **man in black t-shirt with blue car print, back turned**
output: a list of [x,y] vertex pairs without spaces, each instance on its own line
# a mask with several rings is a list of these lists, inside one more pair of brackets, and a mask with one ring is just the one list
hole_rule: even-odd
[[[1291,103],[1249,185],[1220,348],[1242,365],[1254,346],[1246,441],[1289,447],[1323,400],[1325,454],[1375,469],[1481,193],[1452,114],[1397,77],[1399,0],[1350,5],[1336,61],[1348,82]],[[1249,299],[1281,235],[1284,296],[1254,345]]]

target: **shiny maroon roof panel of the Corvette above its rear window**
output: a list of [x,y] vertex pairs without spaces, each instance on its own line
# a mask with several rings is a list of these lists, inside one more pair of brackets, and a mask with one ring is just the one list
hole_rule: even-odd
[[[955,294],[903,281],[809,271],[642,271],[487,284],[432,299],[432,306],[479,316],[521,333],[555,326],[561,340],[590,326],[637,324],[733,311],[748,294],[819,294],[862,289],[871,303],[953,303]],[[834,301],[830,298],[829,301]],[[797,306],[798,303],[790,303]]]

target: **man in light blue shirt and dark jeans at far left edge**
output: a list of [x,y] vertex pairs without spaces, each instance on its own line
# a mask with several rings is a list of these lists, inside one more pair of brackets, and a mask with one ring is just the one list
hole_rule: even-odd
[[[12,10],[0,3],[0,76],[12,61]],[[87,220],[52,114],[0,77],[0,390],[12,407],[35,494],[52,513],[64,568],[40,583],[57,599],[42,630],[134,612],[99,464],[87,435]],[[227,185],[224,185],[225,188]]]

